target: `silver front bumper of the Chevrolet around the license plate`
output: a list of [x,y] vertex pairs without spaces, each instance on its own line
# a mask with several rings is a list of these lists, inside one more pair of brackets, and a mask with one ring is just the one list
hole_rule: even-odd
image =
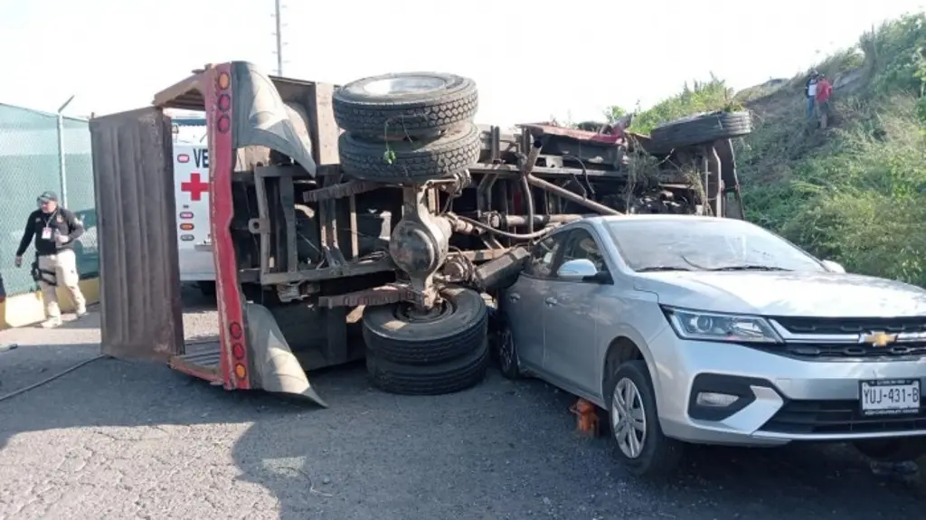
[[[711,444],[776,446],[793,440],[864,440],[926,436],[918,414],[865,416],[865,379],[926,382],[926,358],[890,361],[808,361],[742,345],[681,340],[670,329],[651,343],[663,432]],[[725,406],[700,406],[700,392],[737,395]]]

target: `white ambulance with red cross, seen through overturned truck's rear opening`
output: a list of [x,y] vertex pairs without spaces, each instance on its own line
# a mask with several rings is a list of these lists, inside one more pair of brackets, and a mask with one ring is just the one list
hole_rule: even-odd
[[216,266],[209,229],[209,151],[205,143],[175,141],[173,153],[180,279],[213,292]]

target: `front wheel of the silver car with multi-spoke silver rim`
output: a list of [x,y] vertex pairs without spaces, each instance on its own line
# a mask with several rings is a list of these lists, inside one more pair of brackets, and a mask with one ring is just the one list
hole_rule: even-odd
[[[624,391],[629,396],[630,410],[642,411],[643,432],[632,427],[631,423],[624,422],[628,410],[626,405],[616,404],[616,390]],[[669,477],[674,474],[682,460],[683,444],[669,439],[662,433],[659,426],[659,414],[656,406],[656,392],[649,377],[646,363],[641,360],[629,361],[619,365],[607,378],[605,386],[605,400],[607,415],[610,418],[609,428],[611,439],[615,443],[615,452],[620,461],[627,466],[630,472],[641,477]],[[633,413],[633,412],[631,412]],[[618,423],[620,420],[620,424]],[[629,435],[639,440],[636,453],[630,449],[628,442],[622,435],[630,427]],[[642,435],[641,435],[642,434]]]

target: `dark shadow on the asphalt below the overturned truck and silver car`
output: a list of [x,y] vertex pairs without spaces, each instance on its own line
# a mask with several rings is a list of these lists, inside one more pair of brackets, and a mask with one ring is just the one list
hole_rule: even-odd
[[[94,354],[94,345],[0,353],[0,393]],[[912,489],[875,479],[841,446],[697,450],[657,486],[624,472],[607,440],[577,438],[569,396],[538,381],[492,374],[457,395],[396,397],[351,366],[313,383],[331,409],[100,360],[0,402],[0,450],[19,433],[62,428],[242,425],[231,449],[239,478],[269,490],[286,520],[922,516]]]

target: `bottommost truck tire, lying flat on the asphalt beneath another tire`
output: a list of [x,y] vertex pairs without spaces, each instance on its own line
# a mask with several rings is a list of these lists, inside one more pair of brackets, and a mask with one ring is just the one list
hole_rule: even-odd
[[400,395],[442,395],[466,390],[485,378],[489,342],[457,359],[434,365],[401,365],[367,353],[369,380],[379,390]]

